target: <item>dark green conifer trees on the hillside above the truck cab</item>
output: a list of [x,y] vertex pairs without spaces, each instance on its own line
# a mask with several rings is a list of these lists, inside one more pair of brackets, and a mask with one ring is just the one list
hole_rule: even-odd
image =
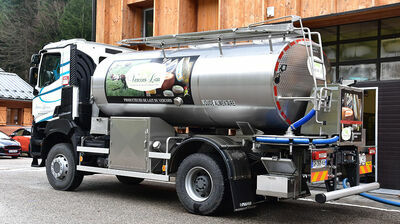
[[25,80],[45,44],[90,35],[90,0],[0,0],[0,68]]

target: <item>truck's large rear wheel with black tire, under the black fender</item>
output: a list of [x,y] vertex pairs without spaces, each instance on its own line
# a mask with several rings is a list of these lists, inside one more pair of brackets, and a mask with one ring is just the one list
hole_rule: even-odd
[[222,164],[207,154],[188,156],[178,168],[176,192],[191,213],[211,215],[223,210],[229,190]]

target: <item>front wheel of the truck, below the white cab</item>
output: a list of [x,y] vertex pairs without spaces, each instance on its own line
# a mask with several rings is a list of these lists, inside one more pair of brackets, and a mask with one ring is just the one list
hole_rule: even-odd
[[50,149],[47,156],[47,180],[56,190],[72,191],[82,183],[83,174],[76,170],[78,159],[72,150],[71,144],[59,143]]

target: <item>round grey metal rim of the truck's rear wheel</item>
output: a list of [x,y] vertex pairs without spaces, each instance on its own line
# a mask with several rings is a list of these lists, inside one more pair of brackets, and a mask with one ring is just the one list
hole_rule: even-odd
[[210,197],[213,181],[210,173],[203,167],[193,167],[186,174],[185,188],[194,201],[205,201]]

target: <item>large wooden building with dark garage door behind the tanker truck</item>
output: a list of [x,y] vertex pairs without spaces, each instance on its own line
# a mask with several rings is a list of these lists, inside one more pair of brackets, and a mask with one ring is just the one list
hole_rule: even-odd
[[[96,41],[247,26],[287,15],[322,34],[333,80],[366,90],[367,145],[376,176],[400,189],[399,0],[98,0]],[[376,115],[378,114],[378,115]]]

